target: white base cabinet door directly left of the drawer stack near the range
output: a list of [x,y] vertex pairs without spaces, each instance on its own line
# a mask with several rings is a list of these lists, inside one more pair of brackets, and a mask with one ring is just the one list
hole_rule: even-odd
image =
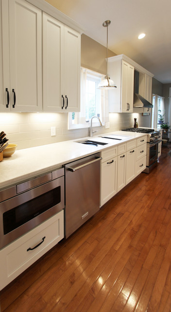
[[126,184],[135,178],[136,149],[126,152]]

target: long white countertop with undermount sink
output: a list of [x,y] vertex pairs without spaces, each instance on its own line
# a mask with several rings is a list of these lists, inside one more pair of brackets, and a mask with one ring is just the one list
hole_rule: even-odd
[[[16,151],[11,157],[4,158],[0,162],[0,190],[51,172],[68,162],[145,135],[144,133],[117,131],[105,133],[103,136],[109,134],[124,136],[124,138],[118,141],[100,137],[84,137]],[[78,143],[85,139],[100,140],[108,144],[97,147]]]

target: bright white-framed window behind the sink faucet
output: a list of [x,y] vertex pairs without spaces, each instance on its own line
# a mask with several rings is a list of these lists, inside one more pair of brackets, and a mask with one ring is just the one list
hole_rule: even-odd
[[[68,113],[68,129],[88,128],[93,116],[100,117],[102,124],[108,121],[107,90],[97,89],[104,76],[81,68],[81,109],[80,113]],[[93,126],[99,126],[96,118]]]

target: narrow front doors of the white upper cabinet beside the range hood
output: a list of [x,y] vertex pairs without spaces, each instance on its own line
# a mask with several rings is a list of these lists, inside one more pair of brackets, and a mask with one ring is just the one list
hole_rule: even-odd
[[134,67],[122,60],[121,112],[133,112]]

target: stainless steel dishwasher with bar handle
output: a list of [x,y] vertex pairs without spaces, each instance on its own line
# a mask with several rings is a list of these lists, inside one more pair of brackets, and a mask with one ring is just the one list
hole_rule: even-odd
[[100,154],[65,165],[65,237],[100,209]]

